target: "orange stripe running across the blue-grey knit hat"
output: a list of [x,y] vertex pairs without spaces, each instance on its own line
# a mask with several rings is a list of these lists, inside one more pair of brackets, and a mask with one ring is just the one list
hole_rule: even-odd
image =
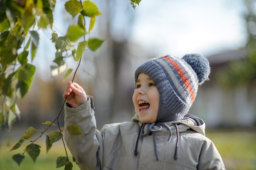
[[182,78],[182,81],[184,82],[184,84],[186,85],[186,87],[188,88],[189,90],[189,93],[190,93],[190,97],[192,99],[192,102],[194,102],[195,100],[195,94],[193,92],[193,89],[191,87],[191,84],[188,80],[188,78],[186,77],[186,75],[184,74],[184,72],[182,71],[182,68],[180,68],[180,66],[174,61],[174,60],[171,60],[171,58],[167,57],[167,56],[163,56],[163,58],[165,60],[167,60],[168,62],[170,62],[174,68],[177,70],[177,72],[179,73],[180,77]]

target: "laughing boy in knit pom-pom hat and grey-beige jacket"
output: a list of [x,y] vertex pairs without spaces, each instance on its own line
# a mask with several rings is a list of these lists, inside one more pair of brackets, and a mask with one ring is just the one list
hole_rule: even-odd
[[[202,119],[188,115],[198,85],[208,79],[200,54],[166,55],[135,71],[131,122],[96,129],[92,97],[69,82],[64,91],[65,141],[81,170],[225,170],[218,150],[205,137]],[[72,136],[74,122],[84,134]]]

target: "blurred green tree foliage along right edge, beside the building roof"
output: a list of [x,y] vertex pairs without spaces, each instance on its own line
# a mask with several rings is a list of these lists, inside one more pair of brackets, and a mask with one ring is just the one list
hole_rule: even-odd
[[244,18],[247,23],[248,40],[245,49],[248,56],[231,62],[224,71],[218,73],[218,82],[226,88],[256,85],[256,0],[244,1],[247,7]]

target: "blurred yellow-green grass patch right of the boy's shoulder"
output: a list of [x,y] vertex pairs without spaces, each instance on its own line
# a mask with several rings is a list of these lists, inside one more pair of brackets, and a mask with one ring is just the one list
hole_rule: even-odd
[[227,170],[256,170],[256,130],[211,130],[206,136],[220,152]]

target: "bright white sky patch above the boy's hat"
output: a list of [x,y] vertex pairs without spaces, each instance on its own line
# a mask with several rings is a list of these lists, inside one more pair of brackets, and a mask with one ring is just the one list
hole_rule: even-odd
[[211,55],[246,42],[243,0],[142,0],[131,39],[160,55]]

